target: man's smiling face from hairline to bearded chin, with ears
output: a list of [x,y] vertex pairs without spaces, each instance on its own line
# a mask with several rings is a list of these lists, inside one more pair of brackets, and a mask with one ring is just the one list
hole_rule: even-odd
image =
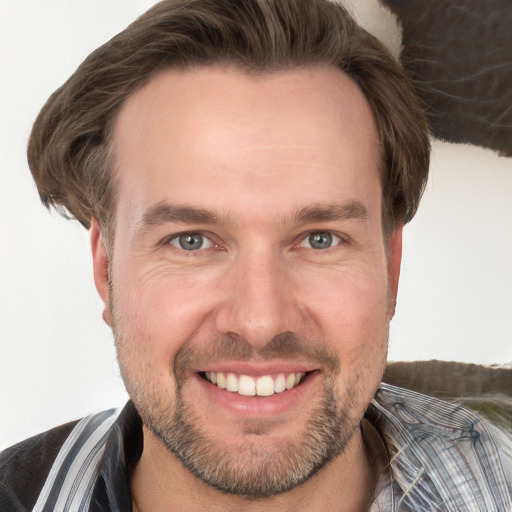
[[114,150],[111,288],[94,224],[96,282],[145,435],[253,497],[341,460],[399,267],[358,87],[327,67],[167,71],[127,100]]

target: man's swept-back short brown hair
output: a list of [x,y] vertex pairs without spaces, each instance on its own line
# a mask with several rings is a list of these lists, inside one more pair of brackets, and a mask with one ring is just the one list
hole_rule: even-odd
[[[49,98],[28,146],[43,204],[113,227],[112,126],[128,96],[163,69],[235,65],[248,73],[335,66],[361,88],[382,152],[389,233],[415,214],[429,167],[427,125],[385,47],[328,0],[164,0],[95,50]],[[108,234],[107,234],[108,236]]]

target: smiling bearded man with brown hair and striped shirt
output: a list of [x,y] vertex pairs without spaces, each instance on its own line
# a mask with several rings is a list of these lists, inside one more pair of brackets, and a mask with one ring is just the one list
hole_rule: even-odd
[[50,98],[131,401],[6,450],[2,510],[509,510],[475,414],[380,385],[428,171],[400,67],[324,0],[165,1]]

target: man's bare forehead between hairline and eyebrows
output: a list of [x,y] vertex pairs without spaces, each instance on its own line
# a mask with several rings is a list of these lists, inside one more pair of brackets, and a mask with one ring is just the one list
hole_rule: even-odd
[[124,104],[114,155],[118,213],[139,218],[164,201],[279,212],[380,187],[370,107],[331,67],[162,72]]

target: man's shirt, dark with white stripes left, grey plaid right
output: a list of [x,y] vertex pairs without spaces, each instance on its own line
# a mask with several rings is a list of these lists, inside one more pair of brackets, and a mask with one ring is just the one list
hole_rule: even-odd
[[[460,406],[387,384],[365,417],[389,456],[370,512],[512,511],[510,435]],[[1,474],[16,449],[0,455],[2,511],[27,510],[13,505]],[[32,510],[130,511],[130,467],[141,453],[142,423],[131,402],[82,419],[66,432]]]

